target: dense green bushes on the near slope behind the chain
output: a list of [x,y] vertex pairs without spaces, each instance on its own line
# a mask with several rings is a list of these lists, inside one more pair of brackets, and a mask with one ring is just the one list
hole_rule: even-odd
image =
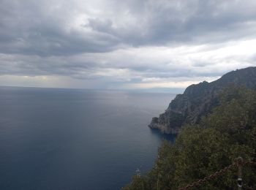
[[[178,189],[230,165],[242,156],[255,161],[256,91],[230,86],[219,106],[196,126],[184,126],[175,143],[163,142],[154,168],[135,175],[127,189]],[[237,169],[195,189],[236,189]],[[244,189],[256,189],[256,168],[243,169]]]

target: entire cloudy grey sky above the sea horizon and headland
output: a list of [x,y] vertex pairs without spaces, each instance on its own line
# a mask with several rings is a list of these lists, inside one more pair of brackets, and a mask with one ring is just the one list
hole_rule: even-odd
[[0,86],[184,89],[256,66],[254,0],[0,0]]

